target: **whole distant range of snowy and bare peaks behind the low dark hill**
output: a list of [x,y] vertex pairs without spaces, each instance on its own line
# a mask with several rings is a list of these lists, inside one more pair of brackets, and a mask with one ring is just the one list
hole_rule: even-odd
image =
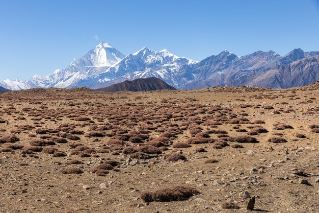
[[274,51],[257,51],[246,56],[223,51],[198,62],[167,50],[157,52],[148,48],[125,56],[109,43],[101,42],[64,69],[25,81],[6,79],[0,86],[11,90],[81,86],[99,89],[149,77],[162,79],[179,89],[225,85],[304,86],[319,80],[319,51],[295,49],[284,56]]

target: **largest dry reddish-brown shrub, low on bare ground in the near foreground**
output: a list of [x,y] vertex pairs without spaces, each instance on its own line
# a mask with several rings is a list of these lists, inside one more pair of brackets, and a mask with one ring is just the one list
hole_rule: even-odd
[[170,202],[187,200],[190,197],[199,194],[196,188],[187,185],[175,185],[154,192],[144,192],[141,194],[144,202]]

